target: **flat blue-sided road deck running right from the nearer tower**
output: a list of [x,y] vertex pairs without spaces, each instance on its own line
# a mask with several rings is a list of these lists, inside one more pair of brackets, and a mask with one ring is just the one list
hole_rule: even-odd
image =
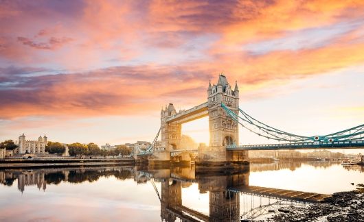
[[334,142],[307,142],[307,143],[276,143],[262,145],[229,145],[226,147],[229,151],[242,150],[278,150],[278,149],[363,149],[364,140],[346,140]]

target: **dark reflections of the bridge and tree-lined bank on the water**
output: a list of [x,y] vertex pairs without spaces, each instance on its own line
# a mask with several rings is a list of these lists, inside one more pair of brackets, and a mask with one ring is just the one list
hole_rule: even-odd
[[[253,171],[260,171],[259,165]],[[262,170],[269,168],[261,165]],[[275,169],[277,166],[270,166]],[[299,167],[296,166],[295,167]],[[61,182],[94,182],[100,177],[113,175],[119,180],[134,180],[137,183],[150,183],[154,187],[161,204],[162,221],[239,221],[256,219],[269,210],[282,206],[306,204],[320,201],[328,195],[306,193],[297,190],[282,190],[249,186],[249,171],[216,173],[214,175],[195,174],[194,167],[177,167],[173,169],[150,169],[138,167],[90,167],[87,169],[32,169],[0,171],[0,182],[17,186],[22,193],[26,186],[37,186],[45,190],[47,184]],[[15,183],[14,183],[15,184]],[[183,188],[198,186],[198,192],[209,196],[208,212],[199,212],[183,205]],[[187,197],[188,198],[188,197]]]

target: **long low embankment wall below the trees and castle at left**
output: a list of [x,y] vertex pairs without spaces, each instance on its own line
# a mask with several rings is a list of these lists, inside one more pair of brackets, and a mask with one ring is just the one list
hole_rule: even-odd
[[89,167],[89,166],[127,166],[134,165],[134,159],[3,159],[0,160],[0,169],[36,168],[36,167]]

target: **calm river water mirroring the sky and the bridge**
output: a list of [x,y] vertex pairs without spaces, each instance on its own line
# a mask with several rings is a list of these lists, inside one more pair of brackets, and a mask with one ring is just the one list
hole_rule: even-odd
[[0,170],[0,221],[239,221],[309,204],[237,190],[255,186],[332,194],[364,184],[363,167],[333,162],[251,163],[249,171],[194,167]]

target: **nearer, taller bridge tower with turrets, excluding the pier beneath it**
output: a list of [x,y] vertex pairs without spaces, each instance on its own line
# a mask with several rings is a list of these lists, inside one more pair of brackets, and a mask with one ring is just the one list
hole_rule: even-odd
[[221,103],[236,114],[239,112],[239,89],[237,82],[234,90],[225,75],[219,75],[218,83],[207,89],[209,110],[209,146],[218,147],[239,144],[238,125],[234,119],[223,110]]

